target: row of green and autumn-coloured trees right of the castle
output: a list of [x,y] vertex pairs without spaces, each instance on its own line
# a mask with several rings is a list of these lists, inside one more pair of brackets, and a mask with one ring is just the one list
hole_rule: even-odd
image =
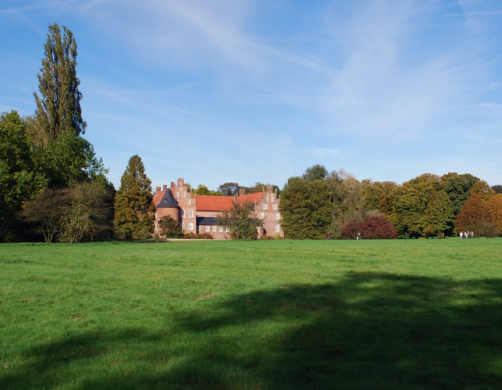
[[401,185],[307,168],[282,190],[282,227],[293,239],[428,238],[502,234],[502,185],[469,174],[424,173]]

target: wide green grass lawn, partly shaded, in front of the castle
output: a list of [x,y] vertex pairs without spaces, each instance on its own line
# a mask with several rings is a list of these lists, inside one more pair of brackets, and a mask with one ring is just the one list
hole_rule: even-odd
[[502,239],[0,245],[0,388],[502,389]]

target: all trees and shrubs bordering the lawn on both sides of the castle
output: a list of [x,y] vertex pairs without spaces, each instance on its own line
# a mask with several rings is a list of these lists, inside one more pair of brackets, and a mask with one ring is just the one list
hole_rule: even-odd
[[[76,57],[71,31],[49,26],[35,113],[0,114],[0,242],[152,237],[155,206],[141,157],[130,158],[115,190],[102,159],[82,136],[87,124]],[[226,182],[216,190],[203,184],[189,190],[233,196],[269,185]],[[495,237],[502,232],[502,185],[490,187],[469,173],[425,173],[398,185],[359,181],[343,169],[328,172],[318,164],[290,177],[282,189],[272,186],[281,195],[286,238],[446,237],[463,231]],[[219,223],[235,238],[256,237],[259,221],[249,218],[252,211],[250,205],[235,204]],[[178,231],[170,221],[162,227]]]

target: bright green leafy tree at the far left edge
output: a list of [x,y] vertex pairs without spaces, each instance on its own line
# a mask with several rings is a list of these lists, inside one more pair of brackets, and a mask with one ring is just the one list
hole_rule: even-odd
[[23,120],[14,110],[0,114],[0,242],[16,239],[16,213],[44,184]]

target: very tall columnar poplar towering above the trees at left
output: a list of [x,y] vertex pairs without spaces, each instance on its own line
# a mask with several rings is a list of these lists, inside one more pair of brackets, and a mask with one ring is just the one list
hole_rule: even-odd
[[38,74],[37,109],[27,119],[33,139],[37,170],[48,179],[49,187],[66,187],[106,170],[92,145],[80,135],[85,132],[76,75],[77,44],[70,30],[49,26],[44,45],[45,58]]

